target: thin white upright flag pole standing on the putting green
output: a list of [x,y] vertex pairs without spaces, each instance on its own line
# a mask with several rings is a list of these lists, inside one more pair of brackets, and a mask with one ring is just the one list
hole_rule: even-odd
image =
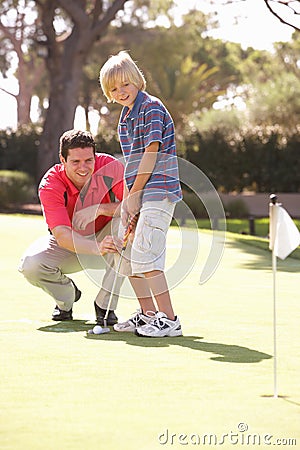
[[270,195],[270,244],[272,246],[272,272],[273,272],[273,377],[274,377],[274,398],[278,398],[277,390],[277,315],[276,315],[276,272],[277,257],[274,252],[274,242],[276,239],[277,224],[277,196]]

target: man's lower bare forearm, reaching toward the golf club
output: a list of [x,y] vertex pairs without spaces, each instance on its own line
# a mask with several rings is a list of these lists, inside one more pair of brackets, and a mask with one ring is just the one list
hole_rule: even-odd
[[122,242],[112,236],[105,236],[101,242],[97,242],[96,239],[87,239],[64,225],[59,225],[51,231],[60,247],[75,253],[103,256],[106,253],[116,253],[122,246]]

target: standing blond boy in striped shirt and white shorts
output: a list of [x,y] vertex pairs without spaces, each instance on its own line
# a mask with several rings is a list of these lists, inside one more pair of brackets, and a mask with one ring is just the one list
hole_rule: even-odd
[[182,198],[173,120],[162,102],[145,92],[145,78],[125,51],[107,60],[100,84],[108,102],[123,106],[118,125],[126,163],[123,224],[139,214],[129,279],[140,310],[114,329],[138,336],[181,336],[164,274],[166,234]]

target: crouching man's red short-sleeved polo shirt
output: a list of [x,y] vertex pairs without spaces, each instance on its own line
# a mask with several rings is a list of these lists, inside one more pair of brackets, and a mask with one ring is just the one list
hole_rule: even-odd
[[[56,164],[44,175],[39,185],[39,198],[43,214],[50,230],[65,225],[72,228],[72,217],[75,211],[91,205],[109,203],[108,182],[116,201],[123,198],[123,164],[111,155],[96,153],[95,169],[91,183],[83,198],[80,191],[66,176],[63,164]],[[106,181],[105,181],[106,180]],[[87,225],[85,230],[76,232],[89,236],[100,231],[112,218],[99,216],[96,221]]]

